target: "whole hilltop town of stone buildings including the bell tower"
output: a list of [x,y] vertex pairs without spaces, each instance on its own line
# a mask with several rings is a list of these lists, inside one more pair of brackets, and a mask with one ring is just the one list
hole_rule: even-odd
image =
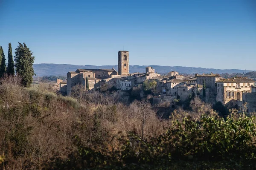
[[[146,67],[144,73],[129,72],[129,51],[118,51],[118,71],[112,69],[78,68],[67,73],[67,80],[57,80],[60,92],[69,96],[76,85],[84,90],[115,89],[123,100],[128,100],[131,91],[145,96],[143,84],[154,82],[153,105],[169,102],[175,108],[177,100],[186,101],[191,96],[200,96],[204,102],[214,105],[221,102],[227,108],[256,111],[256,84],[246,77],[223,78],[219,74],[195,74],[194,77],[170,71],[168,75],[157,74],[154,68]],[[246,104],[246,105],[245,105]]]

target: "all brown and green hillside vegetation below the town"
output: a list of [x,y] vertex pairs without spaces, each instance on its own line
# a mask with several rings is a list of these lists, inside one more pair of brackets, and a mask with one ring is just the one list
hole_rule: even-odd
[[[44,83],[0,81],[0,169],[255,169],[253,115],[223,118],[200,99],[169,119],[146,99],[75,91],[63,97]],[[196,101],[195,101],[196,100]]]

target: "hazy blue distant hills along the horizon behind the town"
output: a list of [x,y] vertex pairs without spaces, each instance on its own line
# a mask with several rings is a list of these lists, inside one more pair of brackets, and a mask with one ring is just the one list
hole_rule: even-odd
[[[145,72],[145,67],[153,67],[157,73],[164,74],[170,71],[177,71],[182,74],[202,74],[202,73],[243,73],[244,70],[238,69],[214,69],[214,68],[195,68],[195,67],[182,67],[182,66],[161,66],[161,65],[130,65],[130,73]],[[117,70],[117,65],[71,65],[71,64],[34,64],[35,74],[37,76],[47,75],[67,75],[69,71],[76,71],[78,68],[113,68]],[[249,70],[247,70],[249,72]]]

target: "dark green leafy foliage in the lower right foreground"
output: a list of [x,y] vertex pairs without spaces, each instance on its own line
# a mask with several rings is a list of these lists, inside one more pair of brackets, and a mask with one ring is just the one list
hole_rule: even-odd
[[225,121],[202,115],[175,121],[163,135],[145,142],[131,134],[122,150],[101,152],[84,147],[67,159],[55,158],[47,169],[254,169],[256,127],[254,117],[228,117]]

